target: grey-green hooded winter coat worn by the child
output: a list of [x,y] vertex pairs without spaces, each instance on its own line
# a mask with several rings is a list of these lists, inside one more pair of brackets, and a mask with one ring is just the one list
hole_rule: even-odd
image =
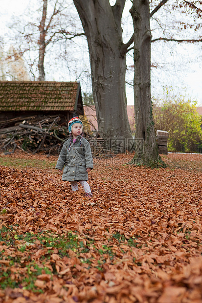
[[63,170],[62,180],[64,181],[78,181],[88,180],[87,168],[93,169],[93,160],[89,142],[85,139],[81,139],[81,136],[76,137],[76,142],[71,142],[70,151],[68,151],[70,139],[68,139],[60,152],[58,162],[56,164],[57,169]]

